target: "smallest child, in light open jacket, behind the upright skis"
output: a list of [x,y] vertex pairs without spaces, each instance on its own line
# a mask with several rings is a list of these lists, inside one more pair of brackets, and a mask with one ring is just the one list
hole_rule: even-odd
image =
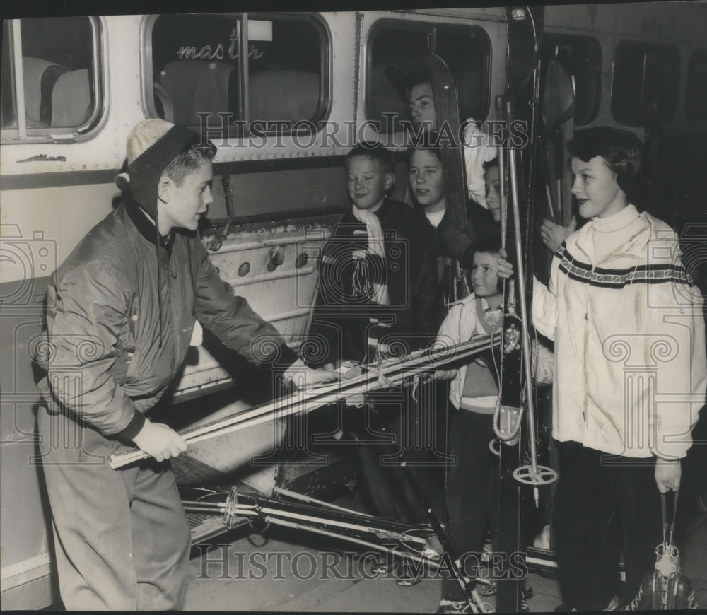
[[[474,251],[471,281],[474,293],[452,305],[440,327],[438,346],[456,346],[474,336],[489,335],[500,327],[503,295],[498,279],[498,238],[479,242]],[[534,377],[552,381],[552,353],[533,344]],[[500,365],[499,365],[500,369]],[[498,375],[492,361],[477,358],[457,370],[436,372],[438,378],[453,378],[450,401],[455,407],[450,430],[452,455],[457,461],[448,471],[445,502],[449,515],[448,532],[457,554],[466,563],[467,575],[481,561],[489,512],[498,502],[489,502],[489,481],[496,481],[492,469],[495,457],[489,450],[493,433],[493,413],[499,402]],[[496,472],[497,474],[497,472]],[[493,488],[491,491],[495,491]],[[463,609],[464,596],[456,580],[443,579],[438,612]]]

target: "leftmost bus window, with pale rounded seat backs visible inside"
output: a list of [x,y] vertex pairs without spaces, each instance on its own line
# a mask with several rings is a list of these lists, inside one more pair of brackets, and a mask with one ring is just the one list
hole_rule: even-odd
[[[4,141],[42,136],[49,139],[57,134],[83,132],[93,124],[100,105],[96,87],[98,32],[98,22],[88,17],[23,19],[20,28],[15,23],[4,23]],[[11,52],[18,37],[21,57]],[[23,110],[18,110],[20,87],[24,93]],[[22,130],[18,113],[24,117]]]

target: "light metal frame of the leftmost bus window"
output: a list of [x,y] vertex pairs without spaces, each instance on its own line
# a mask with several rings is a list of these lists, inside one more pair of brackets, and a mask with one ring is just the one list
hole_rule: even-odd
[[[13,102],[16,110],[17,127],[4,128],[0,130],[0,143],[3,145],[26,145],[30,143],[66,143],[88,141],[98,134],[103,128],[109,108],[109,94],[107,88],[107,75],[105,75],[105,67],[107,60],[105,58],[105,23],[103,17],[100,16],[76,16],[88,20],[91,28],[93,61],[91,62],[91,77],[93,78],[93,92],[95,94],[94,104],[91,107],[91,112],[85,122],[79,126],[72,127],[28,127],[24,121],[21,121],[20,116],[24,116],[25,100],[24,100],[24,81],[18,83],[18,74],[22,75],[24,80],[23,70],[18,71],[18,56],[16,49],[22,46],[22,19],[8,20],[9,34],[11,38],[11,75],[13,85]],[[47,19],[62,19],[63,17],[48,17]],[[17,28],[17,31],[16,31]],[[21,58],[21,56],[20,56]],[[18,86],[23,86],[19,88]],[[22,95],[20,95],[22,90]],[[20,110],[18,102],[22,100],[23,107]],[[23,117],[24,119],[24,117]],[[24,134],[23,134],[24,133]]]

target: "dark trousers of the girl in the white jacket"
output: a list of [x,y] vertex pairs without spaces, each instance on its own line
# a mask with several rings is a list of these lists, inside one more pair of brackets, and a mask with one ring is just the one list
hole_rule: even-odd
[[[630,602],[653,572],[662,541],[655,459],[557,444],[553,530],[563,602],[578,611],[600,611],[614,595]],[[619,591],[621,553],[626,582]]]

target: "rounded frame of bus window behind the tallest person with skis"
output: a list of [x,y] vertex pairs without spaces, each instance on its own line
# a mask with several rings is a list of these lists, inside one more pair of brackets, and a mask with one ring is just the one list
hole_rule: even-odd
[[[489,33],[486,32],[483,26],[476,23],[472,24],[452,21],[423,20],[404,21],[400,18],[395,17],[382,17],[380,19],[377,19],[373,24],[370,25],[368,35],[366,37],[366,46],[364,48],[364,53],[366,54],[364,59],[366,66],[366,81],[363,84],[363,113],[366,117],[366,122],[375,122],[376,119],[378,119],[373,117],[373,109],[371,108],[372,98],[370,96],[370,91],[372,88],[372,84],[370,83],[370,78],[373,74],[373,49],[371,49],[371,47],[373,46],[373,41],[375,40],[375,37],[378,35],[378,31],[382,30],[382,28],[385,28],[386,26],[393,24],[395,24],[397,29],[399,30],[423,32],[425,30],[432,30],[433,28],[456,27],[466,28],[467,30],[469,30],[469,32],[473,30],[475,33],[482,35],[483,44],[486,47],[485,61],[481,66],[484,81],[481,90],[484,98],[481,100],[481,107],[478,117],[474,117],[474,121],[484,122],[486,118],[489,117],[489,112],[491,109],[491,61],[493,57],[493,45],[491,45],[491,38],[489,37]],[[462,120],[463,119],[465,118],[462,118]],[[385,132],[379,132],[378,130],[376,130],[376,132],[378,134],[386,134]]]

